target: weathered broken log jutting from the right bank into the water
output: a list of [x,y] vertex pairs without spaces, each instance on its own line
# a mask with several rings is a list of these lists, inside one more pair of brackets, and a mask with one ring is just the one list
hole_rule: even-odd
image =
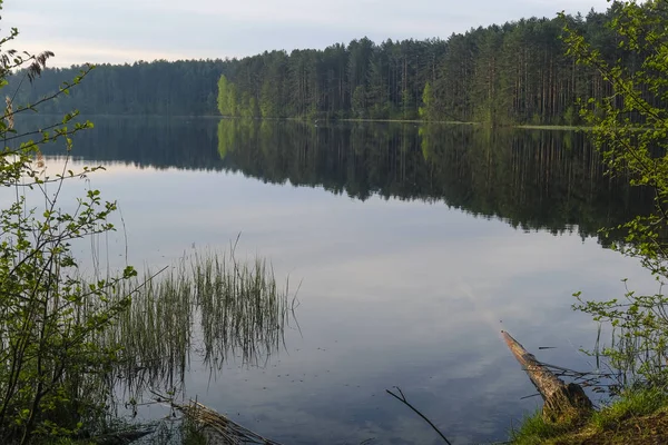
[[567,385],[541,364],[533,354],[528,353],[510,334],[504,330],[501,334],[510,352],[522,365],[531,383],[542,396],[544,400],[542,415],[546,421],[568,422],[591,414],[593,409],[591,400],[580,385],[574,383]]

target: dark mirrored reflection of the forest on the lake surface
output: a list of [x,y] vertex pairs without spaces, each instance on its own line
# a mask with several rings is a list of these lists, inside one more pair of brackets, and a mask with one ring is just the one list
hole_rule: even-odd
[[232,170],[357,199],[442,201],[513,227],[596,235],[650,197],[603,175],[584,135],[471,126],[99,119],[75,155],[139,167]]

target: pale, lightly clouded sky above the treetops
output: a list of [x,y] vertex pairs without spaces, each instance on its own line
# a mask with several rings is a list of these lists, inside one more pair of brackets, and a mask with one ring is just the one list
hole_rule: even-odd
[[[56,53],[51,66],[225,59],[323,49],[369,37],[446,39],[453,32],[559,11],[603,11],[606,0],[4,0],[13,49]],[[9,47],[3,49],[10,49]]]

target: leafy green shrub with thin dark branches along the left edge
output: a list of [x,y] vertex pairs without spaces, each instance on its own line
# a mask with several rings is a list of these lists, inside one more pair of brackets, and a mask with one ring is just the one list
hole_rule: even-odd
[[[19,70],[17,76],[33,80],[52,53],[4,49],[17,36],[12,30],[0,40],[0,77],[4,80],[10,70]],[[69,212],[59,199],[67,180],[98,168],[75,172],[66,162],[50,177],[40,151],[58,142],[69,155],[72,136],[92,125],[76,122],[78,112],[71,112],[41,129],[20,131],[14,126],[27,111],[68,95],[91,69],[86,67],[33,103],[8,98],[0,117],[0,185],[13,197],[0,209],[0,438],[8,444],[73,435],[101,415],[108,388],[100,382],[116,350],[100,347],[95,338],[130,303],[115,288],[135,276],[131,267],[117,277],[85,280],[72,253],[75,240],[114,229],[107,218],[116,205],[104,201],[95,189]],[[0,85],[7,88],[7,82]],[[32,205],[40,201],[40,207]]]

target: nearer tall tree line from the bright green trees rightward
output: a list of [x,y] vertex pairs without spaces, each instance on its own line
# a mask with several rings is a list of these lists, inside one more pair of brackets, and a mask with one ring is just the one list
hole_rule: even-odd
[[[606,60],[631,57],[605,23],[618,4],[586,17],[522,19],[446,40],[367,38],[324,50],[265,52],[237,61],[218,82],[223,116],[579,122],[577,99],[609,83],[577,66],[561,40],[577,29]],[[628,57],[627,57],[628,56]]]

